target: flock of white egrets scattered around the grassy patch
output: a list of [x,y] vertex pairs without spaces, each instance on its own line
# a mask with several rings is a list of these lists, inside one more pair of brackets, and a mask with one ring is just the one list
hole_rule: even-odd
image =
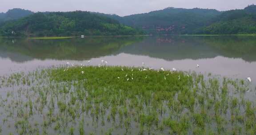
[[[88,62],[87,62],[87,64],[89,64],[91,61],[89,60]],[[64,71],[68,71],[68,67],[69,66],[74,66],[74,64],[71,64],[71,63],[69,63],[69,62],[67,62],[66,63],[67,64],[67,68],[65,68],[64,69]],[[101,60],[101,64],[98,64],[98,67],[101,67],[101,66],[106,66],[108,64],[108,61],[105,61],[105,60]],[[81,64],[81,68],[83,67],[83,66],[85,66],[85,65],[83,65],[83,64]],[[199,68],[199,64],[196,64],[196,68]],[[106,68],[106,70],[107,70],[108,68]],[[148,71],[148,70],[152,70],[153,68],[152,67],[148,67],[148,68],[145,68],[145,64],[144,64],[144,62],[142,62],[142,67],[140,68],[138,68],[139,69],[139,71]],[[121,67],[121,70],[122,71],[124,71],[124,69]],[[133,71],[134,69],[132,69],[132,71]],[[161,71],[165,71],[165,69],[164,69],[164,67],[161,67],[160,68],[160,70]],[[159,72],[159,70],[157,70],[158,72]],[[170,72],[172,73],[173,71],[177,71],[176,70],[176,68],[172,68],[172,70],[170,70]],[[84,71],[81,71],[81,73],[82,74],[84,74]],[[167,75],[164,75],[164,79],[166,80],[166,76],[168,76],[169,74],[167,74]],[[188,75],[189,76],[189,75]],[[126,74],[125,75],[125,77],[127,78],[126,80],[127,81],[129,81],[129,77],[128,77],[128,74]],[[145,79],[147,79],[148,78],[148,75],[146,75],[146,77],[145,77]],[[120,79],[120,77],[118,76],[117,77],[117,79]],[[131,77],[131,79],[133,80],[134,78],[133,78],[133,74],[132,74],[132,77]],[[178,79],[180,79],[180,75],[178,76]],[[247,77],[246,78],[249,82],[252,82],[252,79],[250,78],[250,77]]]

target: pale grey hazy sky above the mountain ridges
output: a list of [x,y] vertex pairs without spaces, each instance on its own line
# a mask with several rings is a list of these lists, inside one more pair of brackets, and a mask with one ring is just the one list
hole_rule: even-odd
[[0,12],[12,8],[37,11],[92,11],[120,16],[150,12],[167,7],[241,9],[256,0],[0,0]]

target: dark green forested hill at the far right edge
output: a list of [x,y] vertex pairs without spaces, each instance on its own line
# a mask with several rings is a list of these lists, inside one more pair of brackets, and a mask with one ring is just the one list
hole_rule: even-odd
[[212,24],[201,28],[204,34],[252,34],[256,33],[256,5],[243,10],[230,10],[216,16]]

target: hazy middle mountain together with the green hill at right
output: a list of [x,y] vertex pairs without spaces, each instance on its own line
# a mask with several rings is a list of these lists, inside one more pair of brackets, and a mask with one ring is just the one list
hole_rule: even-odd
[[105,15],[148,34],[256,33],[256,5],[242,10],[165,8],[130,16]]

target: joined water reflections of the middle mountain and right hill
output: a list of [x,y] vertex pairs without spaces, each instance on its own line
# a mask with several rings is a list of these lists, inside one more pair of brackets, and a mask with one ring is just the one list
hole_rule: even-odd
[[155,37],[121,48],[120,52],[164,60],[197,60],[224,56],[256,61],[256,38],[252,36]]

